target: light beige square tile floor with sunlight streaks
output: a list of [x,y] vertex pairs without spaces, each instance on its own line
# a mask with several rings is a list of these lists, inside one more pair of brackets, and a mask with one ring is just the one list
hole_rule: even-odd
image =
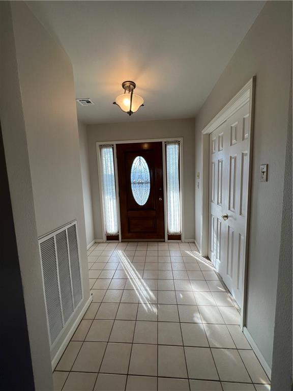
[[268,391],[240,314],[190,243],[100,243],[88,252],[93,302],[55,391]]

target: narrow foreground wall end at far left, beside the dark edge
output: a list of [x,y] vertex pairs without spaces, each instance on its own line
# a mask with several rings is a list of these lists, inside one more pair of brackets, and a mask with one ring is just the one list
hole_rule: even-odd
[[[49,338],[46,332],[47,321],[31,167],[9,2],[0,2],[0,58],[0,120],[34,382],[36,390],[49,391],[53,389]],[[9,262],[9,259],[4,259],[3,262]],[[13,284],[13,281],[11,281],[11,284]],[[9,301],[9,297],[6,297],[6,300]],[[11,354],[16,357],[14,376],[17,376],[17,351],[11,352]]]

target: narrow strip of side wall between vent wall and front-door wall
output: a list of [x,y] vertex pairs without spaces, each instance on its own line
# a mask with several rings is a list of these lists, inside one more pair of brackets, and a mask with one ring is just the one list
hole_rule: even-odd
[[79,153],[80,153],[80,165],[81,165],[85,235],[86,235],[86,244],[89,245],[95,239],[95,234],[94,234],[94,219],[93,219],[89,152],[88,152],[89,148],[87,147],[86,125],[84,125],[82,122],[78,122],[78,135],[79,135]]

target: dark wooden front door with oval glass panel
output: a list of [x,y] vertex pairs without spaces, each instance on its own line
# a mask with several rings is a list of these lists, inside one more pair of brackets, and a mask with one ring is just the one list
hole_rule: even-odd
[[162,143],[118,144],[122,240],[164,239]]

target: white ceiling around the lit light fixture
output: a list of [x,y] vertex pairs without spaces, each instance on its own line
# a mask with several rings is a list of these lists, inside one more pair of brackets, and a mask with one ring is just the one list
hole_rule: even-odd
[[[85,123],[194,117],[254,22],[257,1],[37,1],[30,8],[73,64]],[[112,104],[133,80],[145,106]]]

